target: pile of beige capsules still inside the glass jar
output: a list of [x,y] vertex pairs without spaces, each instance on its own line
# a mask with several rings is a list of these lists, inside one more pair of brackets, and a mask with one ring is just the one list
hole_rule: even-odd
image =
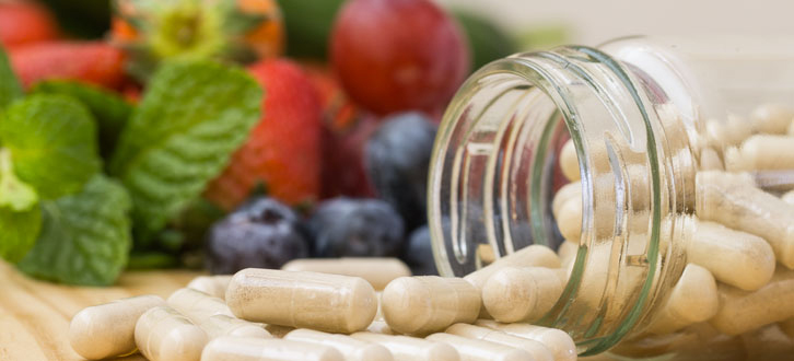
[[[684,129],[680,124],[674,127]],[[794,112],[768,104],[748,117],[709,120],[690,143],[687,151],[694,153],[697,164],[693,212],[664,214],[662,226],[662,237],[682,242],[687,265],[646,334],[662,336],[692,326],[727,340],[771,327],[791,345]],[[599,161],[607,162],[594,162]],[[560,247],[561,255],[568,255],[565,263],[579,248],[583,217],[579,161],[570,140],[560,152],[560,168],[571,180],[552,202],[560,233],[568,240]],[[626,168],[646,172],[644,165],[631,163]],[[643,182],[647,176],[635,178]],[[675,233],[665,234],[673,223]]]

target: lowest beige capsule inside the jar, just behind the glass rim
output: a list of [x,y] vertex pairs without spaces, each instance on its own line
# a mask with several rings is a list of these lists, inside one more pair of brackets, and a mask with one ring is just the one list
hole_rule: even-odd
[[665,335],[707,321],[719,305],[714,277],[705,268],[688,264],[649,331]]

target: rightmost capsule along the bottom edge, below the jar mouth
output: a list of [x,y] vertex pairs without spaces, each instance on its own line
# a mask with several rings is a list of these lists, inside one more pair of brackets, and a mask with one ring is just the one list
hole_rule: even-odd
[[557,328],[529,324],[502,324],[490,319],[478,319],[475,325],[544,343],[554,356],[556,361],[576,361],[576,345],[570,335]]

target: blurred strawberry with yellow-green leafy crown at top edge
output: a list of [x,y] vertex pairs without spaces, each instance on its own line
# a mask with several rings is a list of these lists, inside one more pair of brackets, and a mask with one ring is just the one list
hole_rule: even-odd
[[139,79],[166,58],[250,62],[283,47],[275,0],[114,0],[110,39],[130,55]]

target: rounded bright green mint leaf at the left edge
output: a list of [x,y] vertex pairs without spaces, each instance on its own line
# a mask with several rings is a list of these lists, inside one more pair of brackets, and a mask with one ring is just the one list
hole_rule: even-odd
[[55,199],[80,190],[100,171],[95,127],[79,102],[33,95],[9,106],[0,120],[0,140],[16,176],[42,199]]

